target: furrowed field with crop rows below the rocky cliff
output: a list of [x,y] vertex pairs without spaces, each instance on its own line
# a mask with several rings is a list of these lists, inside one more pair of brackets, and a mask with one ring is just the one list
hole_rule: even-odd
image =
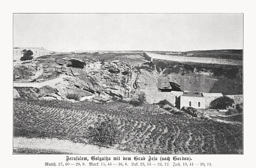
[[14,136],[88,139],[88,128],[104,118],[123,132],[118,148],[149,153],[237,153],[242,127],[167,113],[154,104],[95,103],[14,99]]

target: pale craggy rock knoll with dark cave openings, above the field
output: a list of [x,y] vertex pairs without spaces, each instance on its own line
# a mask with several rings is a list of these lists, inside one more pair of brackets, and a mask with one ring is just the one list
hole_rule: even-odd
[[[72,63],[71,66],[69,62]],[[77,93],[80,97],[96,96],[102,98],[133,98],[139,90],[150,92],[157,90],[158,72],[149,67],[148,62],[129,62],[128,60],[86,60],[76,58],[55,59],[57,73],[63,81],[57,82],[52,88],[16,88],[19,95],[27,97],[51,96],[66,99],[67,93]],[[75,66],[73,67],[75,62]],[[68,64],[69,63],[69,64]],[[60,65],[61,64],[61,65]],[[81,68],[83,66],[83,68]],[[50,82],[50,81],[49,81]],[[24,91],[25,90],[25,91]],[[148,91],[149,90],[149,91]]]

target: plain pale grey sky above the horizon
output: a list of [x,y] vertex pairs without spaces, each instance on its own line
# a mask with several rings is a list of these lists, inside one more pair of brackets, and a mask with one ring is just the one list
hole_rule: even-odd
[[243,48],[241,13],[14,13],[13,47],[53,51]]

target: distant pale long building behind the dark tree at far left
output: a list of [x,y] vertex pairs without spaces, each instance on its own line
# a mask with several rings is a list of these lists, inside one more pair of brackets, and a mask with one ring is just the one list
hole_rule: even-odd
[[31,50],[33,52],[33,57],[38,57],[38,56],[43,56],[43,55],[48,55],[49,51],[46,50],[43,47],[14,47],[13,48],[13,60],[19,60],[21,56],[23,56],[22,54],[22,50],[26,49],[26,50]]

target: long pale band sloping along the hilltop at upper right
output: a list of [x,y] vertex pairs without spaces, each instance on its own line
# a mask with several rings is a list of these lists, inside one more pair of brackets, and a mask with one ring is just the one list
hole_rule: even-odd
[[229,65],[242,65],[241,60],[232,59],[216,59],[210,57],[190,57],[190,56],[176,56],[176,55],[161,55],[156,53],[145,52],[153,59],[164,59],[179,62],[199,62],[199,63],[215,63],[215,64],[229,64]]

